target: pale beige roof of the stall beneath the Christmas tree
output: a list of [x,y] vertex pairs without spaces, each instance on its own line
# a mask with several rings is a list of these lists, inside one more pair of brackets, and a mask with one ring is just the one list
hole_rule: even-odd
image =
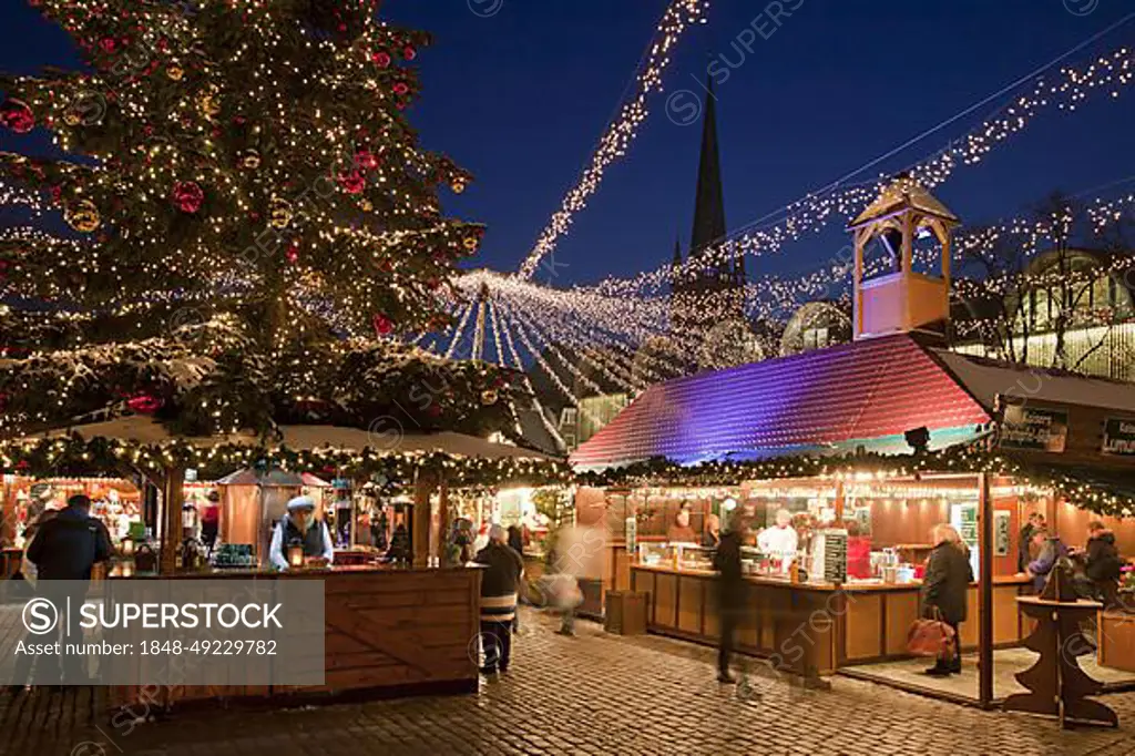
[[[476,436],[466,436],[456,432],[439,434],[403,434],[396,423],[382,427],[375,432],[360,430],[358,428],[344,428],[340,426],[281,426],[279,431],[283,436],[283,445],[293,450],[312,448],[351,448],[363,450],[371,447],[378,452],[388,453],[430,453],[440,452],[454,456],[484,457],[490,460],[522,459],[522,460],[556,460],[558,457],[511,446],[508,444],[496,444]],[[152,418],[143,415],[131,415],[116,418],[104,422],[93,422],[69,428],[57,428],[43,434],[30,436],[28,440],[37,438],[60,438],[78,434],[85,439],[91,438],[117,438],[119,440],[131,440],[140,444],[161,444],[175,438],[165,426]],[[233,434],[228,436],[211,436],[200,438],[186,438],[191,444],[200,446],[213,446],[219,444],[235,444],[241,446],[258,446],[260,440],[251,432]]]

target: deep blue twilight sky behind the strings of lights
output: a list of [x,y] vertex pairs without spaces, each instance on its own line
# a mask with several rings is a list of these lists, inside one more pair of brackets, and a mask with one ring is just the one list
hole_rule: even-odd
[[[797,7],[743,62],[731,43],[765,0],[711,0],[683,37],[629,156],[606,171],[556,251],[557,285],[630,275],[688,245],[699,124],[667,118],[666,96],[698,91],[707,57],[737,66],[717,87],[726,219],[737,228],[832,182],[1135,11],[1130,0],[782,0]],[[476,183],[446,210],[488,224],[480,264],[513,270],[590,158],[667,0],[386,0],[390,22],[424,28],[423,96],[410,111],[426,146]],[[491,14],[491,15],[487,15]],[[23,0],[0,8],[0,69],[75,66],[61,31]],[[1135,19],[1075,54],[1135,44]],[[740,64],[740,65],[738,65]],[[992,110],[953,124],[864,174],[898,170]],[[1135,91],[1045,112],[938,194],[964,220],[1023,212],[1053,190],[1135,176]],[[0,148],[18,149],[0,138]],[[1132,191],[1135,180],[1107,190]],[[1099,192],[1092,192],[1094,195]],[[804,271],[843,244],[840,225],[749,263]],[[546,277],[546,276],[545,276]]]

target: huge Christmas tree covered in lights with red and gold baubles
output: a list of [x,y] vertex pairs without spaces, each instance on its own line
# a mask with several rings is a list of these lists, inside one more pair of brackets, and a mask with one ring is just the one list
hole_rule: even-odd
[[[407,123],[428,43],[377,0],[30,0],[85,70],[0,77],[2,432],[152,414],[511,431],[511,379],[401,337],[447,325],[482,228]],[[19,140],[16,140],[18,143]]]

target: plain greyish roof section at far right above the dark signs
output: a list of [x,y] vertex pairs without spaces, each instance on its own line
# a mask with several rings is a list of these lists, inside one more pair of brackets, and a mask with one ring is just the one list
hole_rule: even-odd
[[1135,412],[1135,384],[1091,378],[1067,370],[1012,364],[947,350],[930,351],[986,410],[993,409],[994,398],[1000,394]]

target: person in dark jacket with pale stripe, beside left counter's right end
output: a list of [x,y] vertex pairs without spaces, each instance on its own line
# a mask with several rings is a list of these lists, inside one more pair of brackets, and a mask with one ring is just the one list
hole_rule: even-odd
[[508,672],[512,658],[512,622],[516,618],[516,589],[524,572],[524,560],[505,543],[498,524],[489,528],[488,545],[473,560],[487,569],[481,577],[481,642],[485,665],[481,674]]

